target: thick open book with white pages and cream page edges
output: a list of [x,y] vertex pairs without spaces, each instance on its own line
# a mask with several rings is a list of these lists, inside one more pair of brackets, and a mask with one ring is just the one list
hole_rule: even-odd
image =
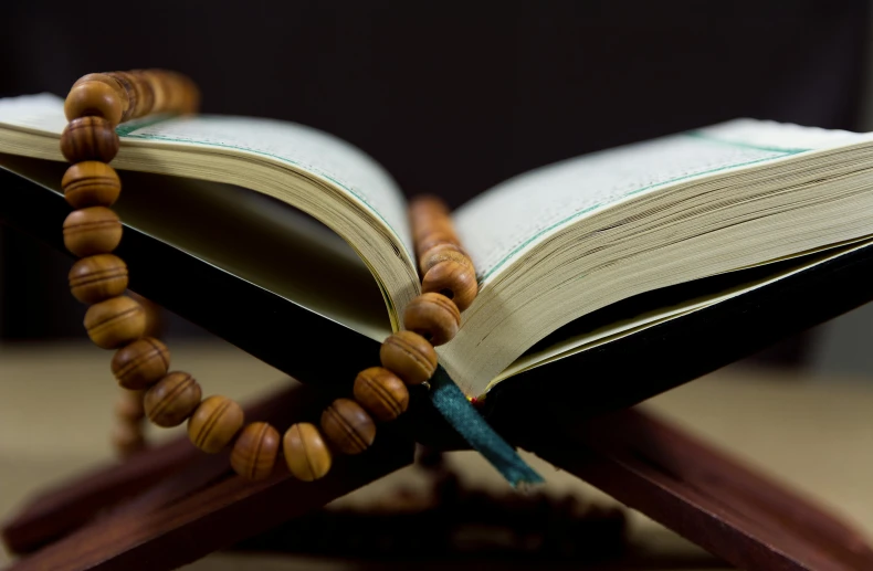
[[[0,99],[0,167],[61,192],[65,125],[59,97]],[[149,118],[118,134],[125,224],[377,341],[399,328],[420,290],[407,205],[365,152],[240,117]],[[482,394],[862,247],[871,213],[873,136],[751,119],[519,175],[453,213],[480,294],[441,363]],[[583,320],[725,274],[715,292]]]

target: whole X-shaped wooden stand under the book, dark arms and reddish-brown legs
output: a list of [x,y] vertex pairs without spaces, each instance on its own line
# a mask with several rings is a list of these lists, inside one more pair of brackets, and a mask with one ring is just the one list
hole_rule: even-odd
[[[63,200],[36,191],[31,183],[4,171],[0,171],[0,221],[57,245],[56,229],[65,215]],[[259,343],[239,332],[245,329],[240,326],[245,325],[246,315],[257,315],[252,304],[274,302],[251,293],[242,297],[246,311],[235,310],[231,303],[217,320],[211,296],[234,299],[230,294],[249,295],[244,284],[228,282],[220,272],[207,275],[210,269],[206,264],[198,265],[134,230],[126,232],[124,256],[132,265],[141,268],[149,265],[149,258],[161,261],[162,272],[141,269],[143,276],[166,275],[176,265],[188,274],[206,273],[200,278],[208,282],[192,282],[211,283],[217,288],[206,295],[191,295],[183,285],[170,288],[159,279],[144,279],[132,283],[135,290],[271,364],[283,366],[295,377],[318,378],[309,374],[305,363],[295,367],[284,353],[273,352],[274,346],[266,340]],[[484,414],[511,442],[739,568],[873,569],[873,550],[845,524],[681,431],[630,409],[870,300],[873,289],[864,277],[871,271],[873,247],[867,247],[715,307],[535,369],[495,389]],[[274,309],[277,307],[274,305]],[[803,310],[798,311],[798,307]],[[317,321],[313,325],[325,327]],[[712,342],[726,336],[733,339],[730,343]],[[372,350],[362,347],[360,355],[372,360]],[[361,362],[349,360],[353,368]],[[275,394],[250,406],[246,417],[283,426],[312,420],[332,392],[347,390],[343,382],[354,379],[343,370],[343,363],[336,367],[337,371],[330,372],[344,376],[327,378],[344,381],[323,383],[322,390],[304,387]],[[319,373],[324,376],[324,370]],[[582,376],[613,381],[583,383],[579,382]],[[533,400],[532,394],[543,398]],[[43,494],[6,524],[7,546],[27,553],[10,569],[172,569],[409,465],[414,441],[441,450],[463,447],[424,395],[413,396],[406,419],[380,430],[370,451],[341,458],[326,478],[313,484],[295,480],[281,466],[264,482],[244,482],[232,474],[227,455],[204,455],[187,440],[97,469]]]

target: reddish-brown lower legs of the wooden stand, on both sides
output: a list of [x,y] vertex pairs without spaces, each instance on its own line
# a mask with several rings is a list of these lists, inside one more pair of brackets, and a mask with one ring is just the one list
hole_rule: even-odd
[[[322,402],[296,387],[246,415],[306,420]],[[328,477],[302,483],[282,468],[260,483],[180,440],[97,470],[27,506],[3,527],[10,568],[160,570],[194,561],[317,509],[412,462],[412,442],[381,431],[371,451],[343,458]],[[748,570],[873,569],[859,533],[800,496],[711,447],[629,410],[525,447]]]

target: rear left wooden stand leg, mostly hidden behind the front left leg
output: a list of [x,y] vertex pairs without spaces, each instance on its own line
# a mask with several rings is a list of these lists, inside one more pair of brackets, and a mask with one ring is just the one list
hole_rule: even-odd
[[[316,391],[294,382],[245,408],[245,417],[276,422],[281,416],[314,406]],[[282,425],[282,424],[277,424]],[[84,474],[62,487],[42,493],[2,528],[3,542],[13,553],[29,553],[60,539],[98,512],[141,494],[203,455],[186,436],[134,454],[119,464]],[[201,463],[201,466],[203,464]],[[212,477],[227,467],[215,465]],[[204,469],[201,467],[201,469]],[[208,477],[208,475],[207,475]]]

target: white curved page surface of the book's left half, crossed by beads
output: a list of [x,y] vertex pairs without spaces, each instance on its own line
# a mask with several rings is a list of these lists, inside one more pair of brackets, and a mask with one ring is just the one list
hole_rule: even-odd
[[[63,99],[50,94],[0,99],[0,124],[60,135],[66,126]],[[327,133],[288,121],[249,117],[157,117],[117,128],[125,140],[211,147],[252,154],[319,176],[366,204],[406,245],[412,240],[406,199],[395,180],[371,157]]]

